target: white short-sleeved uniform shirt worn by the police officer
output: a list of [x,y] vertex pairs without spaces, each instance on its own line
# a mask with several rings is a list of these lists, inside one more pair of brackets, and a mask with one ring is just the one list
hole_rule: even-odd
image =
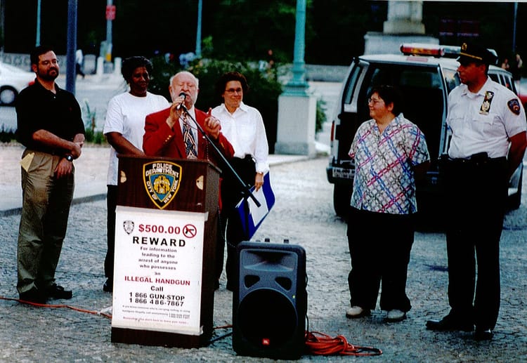
[[526,131],[525,110],[514,92],[488,78],[478,93],[466,84],[448,95],[446,120],[452,131],[448,155],[467,158],[479,152],[506,157],[509,138]]

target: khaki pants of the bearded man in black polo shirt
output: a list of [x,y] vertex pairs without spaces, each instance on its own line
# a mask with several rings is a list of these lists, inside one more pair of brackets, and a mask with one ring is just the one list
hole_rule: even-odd
[[53,284],[74,190],[74,173],[55,178],[60,156],[25,150],[22,159],[30,159],[31,153],[34,157],[22,167],[17,252],[19,293],[34,286],[46,289]]

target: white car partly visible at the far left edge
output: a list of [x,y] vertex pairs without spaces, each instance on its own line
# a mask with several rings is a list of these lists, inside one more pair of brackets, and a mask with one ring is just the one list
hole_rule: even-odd
[[13,106],[18,93],[34,82],[35,74],[0,62],[0,105]]

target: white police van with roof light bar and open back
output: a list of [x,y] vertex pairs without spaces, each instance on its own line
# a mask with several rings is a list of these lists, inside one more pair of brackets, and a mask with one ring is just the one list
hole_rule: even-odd
[[[355,166],[348,152],[357,128],[370,119],[367,97],[381,84],[391,84],[403,93],[404,115],[417,124],[427,139],[431,166],[426,178],[417,184],[417,203],[421,211],[437,211],[440,205],[441,173],[439,159],[447,154],[450,131],[445,123],[448,93],[460,84],[455,47],[403,44],[401,55],[361,55],[353,60],[341,89],[331,129],[331,155],[327,180],[334,184],[335,213],[345,216],[349,209]],[[516,93],[512,74],[491,65],[489,76]],[[521,202],[521,164],[509,183],[509,204]]]

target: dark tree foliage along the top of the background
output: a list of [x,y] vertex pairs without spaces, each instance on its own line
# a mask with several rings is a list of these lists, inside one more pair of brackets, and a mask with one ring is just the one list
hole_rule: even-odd
[[[1,46],[6,53],[29,53],[35,44],[37,0],[0,0],[4,4]],[[77,45],[85,54],[98,55],[106,39],[106,0],[78,1]],[[112,54],[163,55],[195,51],[197,0],[113,0]],[[207,58],[230,61],[266,59],[272,49],[276,62],[292,62],[297,0],[202,0],[202,51]],[[306,0],[305,61],[348,65],[364,50],[367,32],[382,32],[388,1]],[[1,9],[1,8],[0,8]],[[479,21],[480,38],[499,54],[512,51],[514,4],[511,2],[423,1],[427,34],[441,42],[463,39],[441,37],[441,20]],[[527,4],[518,3],[516,46],[524,41]],[[67,0],[41,1],[41,44],[66,51]]]

